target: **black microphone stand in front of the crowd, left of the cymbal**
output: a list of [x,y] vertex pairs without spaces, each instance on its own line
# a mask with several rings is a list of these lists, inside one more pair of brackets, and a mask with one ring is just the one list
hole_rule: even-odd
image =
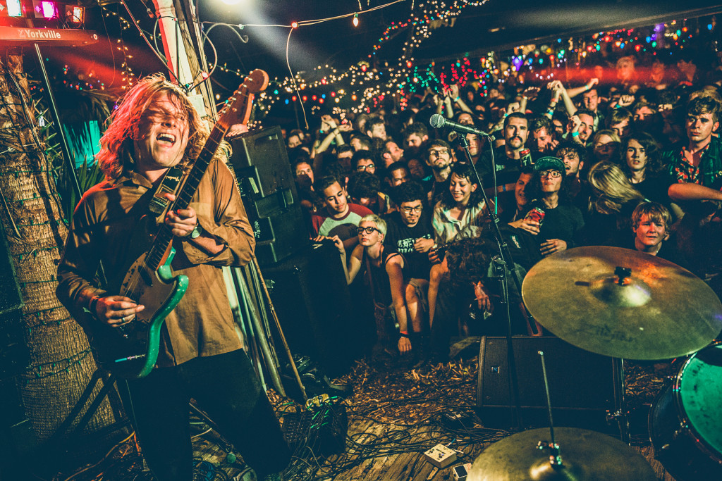
[[[490,153],[492,156],[492,172],[496,170],[494,167],[494,148],[492,147],[492,142],[495,140],[494,136],[487,136],[489,140],[490,145]],[[509,270],[512,274],[511,278],[514,281],[514,285],[516,286],[516,289],[519,294],[521,294],[521,273],[519,273],[518,266],[514,263],[513,257],[511,256],[511,252],[509,250],[509,246],[506,243],[504,237],[501,235],[501,231],[499,230],[499,217],[497,216],[495,210],[490,208],[489,204],[489,197],[487,196],[487,193],[484,192],[484,186],[482,185],[482,180],[479,178],[479,171],[477,171],[477,166],[474,164],[474,162],[471,161],[471,152],[469,152],[469,141],[466,140],[466,136],[460,135],[458,136],[459,145],[464,149],[464,153],[466,155],[466,160],[471,164],[471,169],[474,170],[474,177],[477,179],[477,185],[479,185],[479,189],[482,191],[482,196],[484,198],[484,202],[487,205],[487,211],[489,212],[489,217],[491,219],[492,229],[494,229],[494,236],[496,238],[497,244],[499,245],[499,254],[501,257],[501,262],[499,262],[500,265],[505,265],[506,270]],[[479,156],[479,159],[481,156]],[[496,175],[494,173],[494,178],[496,178]],[[494,188],[494,198],[497,198],[496,195],[496,186]],[[496,205],[495,205],[496,206]],[[503,303],[506,304],[506,306],[509,306],[509,292],[508,288],[506,288],[506,275],[502,275],[500,277],[500,282],[502,283],[502,294],[503,294]],[[514,403],[514,411],[513,411],[513,423],[516,424],[516,428],[521,430],[522,422],[521,422],[521,404],[519,401],[519,384],[518,384],[518,376],[516,374],[516,361],[514,359],[514,348],[513,343],[511,342],[511,313],[509,309],[505,309],[506,312],[506,322],[507,322],[507,329],[506,329],[506,356],[507,356],[507,363],[509,366],[510,371],[510,394],[511,398],[513,399]]]

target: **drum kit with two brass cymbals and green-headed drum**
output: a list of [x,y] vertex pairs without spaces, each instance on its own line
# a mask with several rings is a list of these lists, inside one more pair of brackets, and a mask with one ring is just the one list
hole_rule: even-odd
[[[678,481],[722,479],[722,343],[713,342],[722,331],[722,304],[707,284],[644,252],[577,247],[534,265],[521,293],[529,312],[549,332],[619,361],[615,415],[624,441],[628,433],[622,359],[688,356],[653,403],[651,442],[657,459]],[[657,477],[627,443],[553,424],[492,444],[474,461],[467,478],[632,479]]]

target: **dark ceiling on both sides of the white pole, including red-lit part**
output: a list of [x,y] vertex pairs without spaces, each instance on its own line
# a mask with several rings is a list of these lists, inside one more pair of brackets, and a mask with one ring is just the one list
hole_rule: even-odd
[[[126,1],[143,30],[152,32],[155,20],[147,14],[147,5],[152,5],[152,1]],[[240,0],[239,6],[227,6],[221,0],[197,1],[199,19],[204,22],[206,31],[211,27],[210,22],[247,25],[240,32],[220,26],[213,27],[209,32],[209,39],[218,53],[219,65],[244,74],[252,69],[264,69],[271,77],[281,78],[289,76],[286,63],[289,29],[251,25],[290,25],[294,20],[349,14],[358,10],[359,2],[364,11],[386,3],[385,0]],[[451,3],[451,0],[444,1]],[[368,58],[388,25],[409,18],[412,4],[417,11],[424,5],[420,0],[405,0],[375,12],[362,13],[357,28],[347,17],[294,30],[288,55],[292,71],[309,71],[326,63],[343,71]],[[55,67],[56,76],[62,77],[63,69],[82,74],[92,68],[97,72],[95,78],[103,76],[106,84],[119,87],[123,61],[128,61],[137,76],[162,71],[162,63],[140,39],[136,28],[129,25],[121,30],[118,27],[121,24],[113,12],[129,19],[123,6],[109,4],[105,9],[103,16],[97,7],[88,12],[86,27],[100,34],[101,40],[97,44],[74,49],[43,48],[43,53]],[[482,56],[489,50],[534,43],[535,40],[581,36],[616,27],[653,25],[668,19],[715,12],[722,12],[719,0],[689,0],[684,3],[671,0],[488,0],[481,6],[466,6],[453,26],[433,30],[431,37],[414,51],[414,57],[421,63],[432,59],[458,58],[467,53]],[[241,42],[238,33],[247,35],[248,43]],[[120,55],[118,38],[123,39],[121,45],[126,45],[126,53],[132,58]],[[391,39],[383,43],[376,57],[395,65],[408,38],[408,28],[394,30]],[[210,45],[206,45],[206,54],[209,61],[213,61]],[[235,87],[238,84],[236,79],[222,71],[216,71],[212,76],[218,87]],[[230,93],[219,90],[221,95]],[[229,90],[232,91],[232,87]]]

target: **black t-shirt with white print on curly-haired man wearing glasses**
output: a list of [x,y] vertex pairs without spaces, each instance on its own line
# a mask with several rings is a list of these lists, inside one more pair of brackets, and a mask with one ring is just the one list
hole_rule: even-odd
[[386,237],[383,239],[383,245],[388,252],[399,252],[404,256],[406,277],[429,278],[431,262],[428,252],[414,250],[414,242],[416,239],[433,239],[430,212],[429,208],[425,208],[419,221],[413,227],[406,226],[404,221],[401,221],[401,214],[398,211],[393,211],[386,216]]

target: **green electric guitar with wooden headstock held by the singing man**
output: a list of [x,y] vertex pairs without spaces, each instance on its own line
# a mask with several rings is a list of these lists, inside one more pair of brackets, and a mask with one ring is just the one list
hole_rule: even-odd
[[[193,167],[181,179],[176,190],[173,211],[188,208],[201,178],[208,168],[225,133],[235,123],[247,123],[251,115],[253,94],[266,89],[269,77],[262,70],[254,70],[246,77],[219,114],[206,144]],[[136,258],[122,281],[110,281],[110,291],[134,299],[145,309],[122,327],[108,327],[96,336],[98,360],[103,366],[124,379],[147,376],[158,358],[160,332],[165,317],[170,314],[188,289],[186,275],[173,275],[173,233],[165,224],[157,225],[155,216],[144,216],[152,224],[155,234],[141,234],[149,238],[150,247]],[[138,229],[147,232],[148,229]],[[138,242],[131,239],[131,244]],[[147,242],[144,244],[147,245]],[[143,244],[142,240],[139,242]],[[192,286],[191,286],[192,288]]]

